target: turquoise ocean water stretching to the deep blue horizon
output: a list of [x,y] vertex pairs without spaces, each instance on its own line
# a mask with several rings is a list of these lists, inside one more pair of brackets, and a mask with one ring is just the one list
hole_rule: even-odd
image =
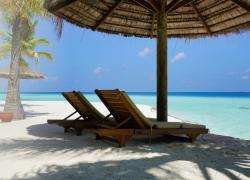
[[[91,102],[100,100],[84,93]],[[156,106],[155,93],[129,93],[136,104]],[[250,140],[250,93],[169,93],[168,112],[205,124],[211,133]],[[26,101],[64,101],[60,93],[22,93]],[[5,94],[0,93],[0,101]]]

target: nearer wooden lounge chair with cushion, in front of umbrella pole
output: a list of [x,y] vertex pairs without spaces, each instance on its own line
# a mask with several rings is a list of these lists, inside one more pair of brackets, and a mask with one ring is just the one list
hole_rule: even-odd
[[200,134],[208,133],[204,125],[185,122],[159,122],[146,118],[129,96],[118,89],[95,90],[96,94],[118,122],[124,122],[116,129],[95,129],[97,137],[111,137],[118,141],[119,147],[134,135],[186,135],[194,141]]

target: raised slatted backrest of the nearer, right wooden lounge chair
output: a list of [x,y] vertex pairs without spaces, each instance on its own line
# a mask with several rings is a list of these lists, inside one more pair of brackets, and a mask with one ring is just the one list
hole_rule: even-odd
[[114,116],[117,122],[131,118],[126,127],[145,128],[147,124],[143,119],[147,119],[125,92],[119,89],[114,90],[95,90],[96,94]]

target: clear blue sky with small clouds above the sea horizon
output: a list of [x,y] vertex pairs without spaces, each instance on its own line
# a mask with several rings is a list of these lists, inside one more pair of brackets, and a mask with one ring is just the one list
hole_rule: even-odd
[[[31,67],[45,80],[22,81],[21,91],[61,92],[119,88],[156,90],[156,40],[128,38],[80,29],[65,23],[57,39],[51,22],[40,22],[37,36],[51,41],[54,62]],[[250,33],[196,40],[168,41],[169,91],[250,92]],[[0,61],[0,67],[8,61]],[[0,91],[7,81],[0,79]]]

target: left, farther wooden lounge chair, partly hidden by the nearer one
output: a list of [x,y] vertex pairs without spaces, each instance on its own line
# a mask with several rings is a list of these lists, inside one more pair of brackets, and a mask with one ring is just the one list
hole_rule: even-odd
[[[62,95],[72,105],[75,111],[64,119],[47,120],[48,124],[62,126],[64,132],[69,132],[69,129],[73,128],[76,130],[77,135],[81,135],[82,130],[85,128],[111,128],[116,125],[114,119],[110,117],[111,114],[105,117],[82,95],[81,92],[63,92]],[[75,119],[70,119],[76,113],[78,113],[79,116]]]

